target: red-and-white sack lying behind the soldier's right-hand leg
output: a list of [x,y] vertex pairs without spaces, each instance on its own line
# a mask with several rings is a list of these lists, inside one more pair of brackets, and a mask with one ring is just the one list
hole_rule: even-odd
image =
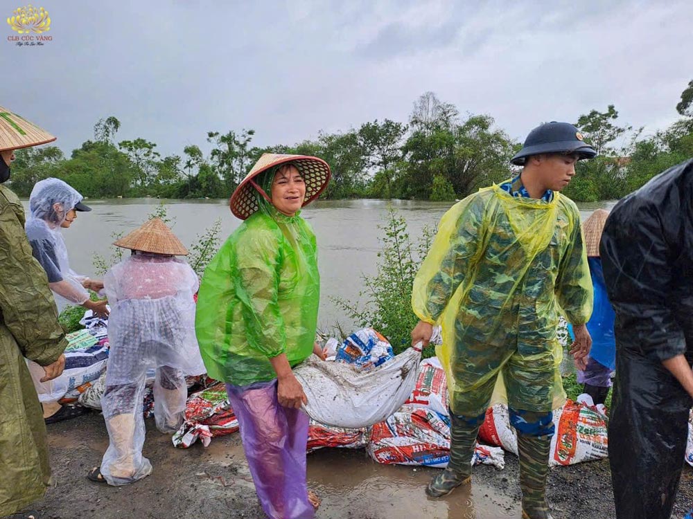
[[[587,394],[568,400],[554,411],[556,432],[551,439],[550,466],[566,466],[608,457],[608,419],[604,406],[595,406]],[[510,426],[508,408],[496,404],[486,411],[479,439],[517,455],[517,433]]]

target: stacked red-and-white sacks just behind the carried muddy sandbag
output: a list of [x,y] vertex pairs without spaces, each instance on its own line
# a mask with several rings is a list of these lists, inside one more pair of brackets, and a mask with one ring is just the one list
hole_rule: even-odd
[[[378,463],[444,468],[450,460],[448,388],[437,358],[421,362],[404,406],[371,429],[367,452]],[[505,467],[502,448],[477,444],[473,464]]]

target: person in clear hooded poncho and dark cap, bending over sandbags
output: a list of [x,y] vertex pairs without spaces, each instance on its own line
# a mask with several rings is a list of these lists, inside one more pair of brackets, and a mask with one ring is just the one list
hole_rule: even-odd
[[[90,280],[70,268],[62,229],[70,228],[78,212],[91,211],[82,203],[82,195],[60,179],[44,179],[34,185],[29,197],[30,215],[26,220],[26,237],[33,255],[48,276],[58,311],[68,304],[79,304],[95,313],[107,313],[105,301],[92,301],[88,289],[100,291],[103,282]],[[37,374],[41,370],[29,362],[30,371],[42,403],[46,424],[78,417],[88,411],[80,406],[61,406],[46,393]]]

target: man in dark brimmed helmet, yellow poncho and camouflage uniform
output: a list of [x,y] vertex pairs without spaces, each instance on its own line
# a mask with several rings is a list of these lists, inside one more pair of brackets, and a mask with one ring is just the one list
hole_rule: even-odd
[[551,517],[552,410],[565,401],[559,313],[572,323],[572,353],[584,363],[593,298],[579,212],[559,191],[579,158],[595,154],[572,125],[542,125],[513,158],[524,165],[519,176],[470,195],[441,219],[412,293],[421,319],[412,340],[428,343],[432,326],[442,326],[437,355],[450,393],[450,463],[428,486],[432,497],[469,481],[495,389],[494,401],[507,396],[518,432],[523,517]]

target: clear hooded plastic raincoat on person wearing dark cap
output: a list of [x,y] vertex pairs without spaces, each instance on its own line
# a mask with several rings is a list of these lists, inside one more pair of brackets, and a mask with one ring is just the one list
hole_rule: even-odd
[[87,277],[70,268],[67,246],[60,232],[67,213],[80,201],[82,195],[60,179],[37,182],[29,197],[26,237],[34,257],[48,275],[58,310],[68,304],[82,304],[89,299],[89,292],[82,286]]

